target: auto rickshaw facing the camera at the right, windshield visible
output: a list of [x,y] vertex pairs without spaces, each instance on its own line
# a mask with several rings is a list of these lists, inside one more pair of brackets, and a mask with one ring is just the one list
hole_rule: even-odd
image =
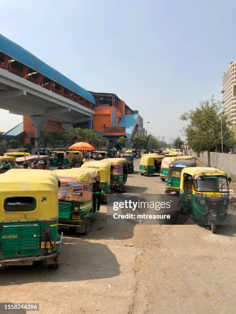
[[208,167],[184,168],[181,171],[178,208],[216,233],[217,224],[226,217],[229,206],[227,173]]

